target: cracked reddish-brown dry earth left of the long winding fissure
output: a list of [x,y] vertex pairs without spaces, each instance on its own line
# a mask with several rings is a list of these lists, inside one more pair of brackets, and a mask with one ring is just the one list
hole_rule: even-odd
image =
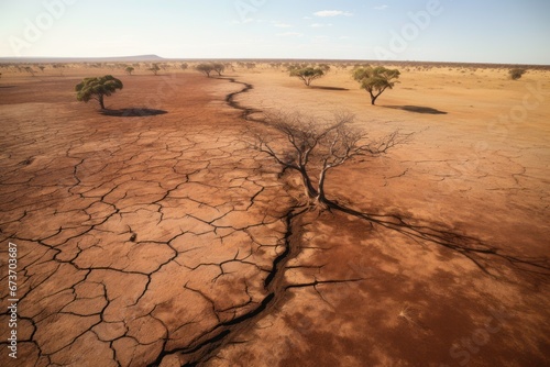
[[167,113],[101,116],[74,101],[76,82],[2,86],[2,264],[11,241],[18,365],[145,366],[265,298],[289,199],[278,167],[239,141],[223,97],[240,86],[129,78],[108,105]]

